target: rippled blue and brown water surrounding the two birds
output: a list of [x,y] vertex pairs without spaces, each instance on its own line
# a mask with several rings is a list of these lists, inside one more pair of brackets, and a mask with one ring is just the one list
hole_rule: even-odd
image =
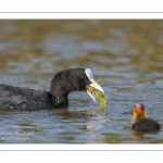
[[53,75],[89,67],[109,96],[68,109],[0,110],[1,143],[162,143],[163,129],[130,130],[135,103],[163,128],[163,21],[0,21],[0,84],[49,90]]

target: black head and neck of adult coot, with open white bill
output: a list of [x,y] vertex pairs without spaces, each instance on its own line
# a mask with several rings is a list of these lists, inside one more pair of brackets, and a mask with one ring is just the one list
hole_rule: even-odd
[[54,75],[50,95],[55,106],[67,106],[67,96],[71,91],[86,91],[95,101],[96,97],[87,89],[91,86],[102,92],[103,89],[95,82],[93,74],[89,68],[70,68]]

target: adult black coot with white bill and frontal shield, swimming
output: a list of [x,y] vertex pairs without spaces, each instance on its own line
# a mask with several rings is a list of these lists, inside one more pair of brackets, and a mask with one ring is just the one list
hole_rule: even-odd
[[67,97],[72,91],[87,91],[96,101],[88,86],[103,92],[89,68],[68,68],[58,73],[52,78],[50,91],[0,85],[0,109],[67,108]]

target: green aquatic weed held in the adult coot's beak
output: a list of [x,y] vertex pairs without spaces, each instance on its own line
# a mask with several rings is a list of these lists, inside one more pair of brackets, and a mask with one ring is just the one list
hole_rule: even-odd
[[[100,79],[98,79],[97,83],[99,83]],[[98,90],[98,89],[96,89],[91,86],[88,86],[87,89],[91,93],[95,93],[96,98],[100,101],[100,108],[105,109],[106,108],[106,98],[108,98],[108,96],[105,93],[103,93],[102,91],[100,91],[100,90]]]

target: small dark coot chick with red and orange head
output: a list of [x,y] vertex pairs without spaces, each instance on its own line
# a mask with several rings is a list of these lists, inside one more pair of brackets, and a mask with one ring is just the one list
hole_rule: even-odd
[[134,109],[131,129],[134,130],[160,130],[158,122],[149,118],[142,103],[137,103]]

